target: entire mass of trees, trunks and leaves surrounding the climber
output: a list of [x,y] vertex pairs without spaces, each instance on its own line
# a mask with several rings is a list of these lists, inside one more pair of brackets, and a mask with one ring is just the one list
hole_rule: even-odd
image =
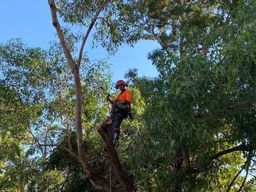
[[[48,50],[0,44],[0,189],[256,190],[255,1],[48,2]],[[135,118],[114,147],[110,64],[84,45],[144,39],[158,76],[123,74]]]

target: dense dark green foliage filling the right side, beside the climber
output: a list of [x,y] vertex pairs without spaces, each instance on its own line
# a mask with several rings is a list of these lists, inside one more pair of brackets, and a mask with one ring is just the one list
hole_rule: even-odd
[[[247,174],[232,181],[236,174],[255,173],[255,1],[136,6],[144,38],[162,46],[148,56],[158,78],[135,81],[146,103],[144,128],[129,151],[138,187],[242,188]],[[251,148],[216,158],[238,145]]]

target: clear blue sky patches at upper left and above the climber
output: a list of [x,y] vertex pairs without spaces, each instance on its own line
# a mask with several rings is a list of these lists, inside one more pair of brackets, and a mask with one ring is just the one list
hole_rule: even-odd
[[[0,43],[21,37],[29,47],[48,49],[49,41],[56,39],[54,33],[47,0],[1,1]],[[146,59],[148,52],[156,47],[159,46],[154,41],[139,41],[134,47],[120,47],[110,59],[113,82],[123,79],[129,68],[137,68],[139,76],[157,76],[151,61]],[[104,49],[91,49],[89,41],[84,51],[88,51],[90,59],[104,59],[107,55]]]

